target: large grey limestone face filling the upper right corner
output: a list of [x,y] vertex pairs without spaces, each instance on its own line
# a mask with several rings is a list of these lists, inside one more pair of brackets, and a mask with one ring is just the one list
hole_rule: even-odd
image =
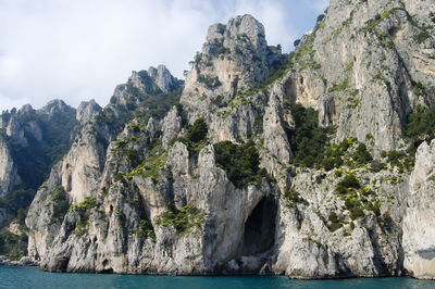
[[302,38],[287,96],[337,125],[338,139],[372,135],[376,150],[399,148],[406,115],[433,101],[433,23],[412,14],[417,7],[433,10],[431,1],[331,1]]

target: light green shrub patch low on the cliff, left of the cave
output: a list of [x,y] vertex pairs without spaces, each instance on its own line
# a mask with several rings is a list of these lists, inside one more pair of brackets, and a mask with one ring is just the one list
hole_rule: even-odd
[[201,210],[189,204],[181,210],[171,204],[170,210],[157,218],[158,226],[172,226],[179,234],[187,234],[194,227],[201,229],[203,222],[204,214]]

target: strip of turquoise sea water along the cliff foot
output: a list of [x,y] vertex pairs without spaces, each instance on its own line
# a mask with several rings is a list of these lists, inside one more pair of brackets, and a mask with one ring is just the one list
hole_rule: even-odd
[[169,277],[146,275],[66,274],[36,267],[0,266],[0,288],[435,288],[413,278],[290,280],[286,277]]

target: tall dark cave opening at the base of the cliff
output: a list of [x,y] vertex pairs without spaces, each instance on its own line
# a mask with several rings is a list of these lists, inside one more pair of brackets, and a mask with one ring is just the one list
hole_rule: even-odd
[[263,197],[245,223],[241,255],[259,255],[269,251],[275,241],[277,203],[273,194]]

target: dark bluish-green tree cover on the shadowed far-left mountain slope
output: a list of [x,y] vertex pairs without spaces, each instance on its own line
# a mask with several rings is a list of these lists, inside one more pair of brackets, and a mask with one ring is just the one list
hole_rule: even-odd
[[[58,162],[70,149],[72,139],[76,135],[78,123],[75,111],[66,106],[62,113],[49,113],[50,104],[38,111],[3,111],[1,118],[9,122],[11,117],[24,128],[27,146],[9,137],[4,129],[0,137],[7,142],[8,148],[22,179],[22,185],[11,193],[0,198],[0,206],[7,208],[11,219],[16,217],[20,210],[26,210],[30,204],[36,190],[50,173],[51,166]],[[30,125],[37,125],[41,130],[41,139]]]

